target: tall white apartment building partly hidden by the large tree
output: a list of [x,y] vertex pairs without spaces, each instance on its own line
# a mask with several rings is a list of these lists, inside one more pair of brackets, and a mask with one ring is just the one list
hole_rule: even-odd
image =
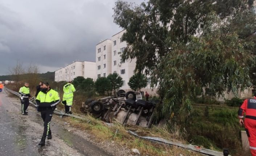
[[[110,73],[116,72],[124,81],[124,85],[120,89],[127,92],[132,90],[129,87],[128,82],[134,75],[136,59],[125,60],[123,62],[121,60],[121,54],[125,47],[127,47],[127,43],[122,39],[124,32],[125,30],[120,31],[113,35],[111,40],[106,39],[96,45],[96,77],[108,76]],[[156,94],[156,89],[152,90],[150,88],[150,78],[148,79],[147,87],[141,89],[142,94],[144,94],[145,91],[150,95]]]

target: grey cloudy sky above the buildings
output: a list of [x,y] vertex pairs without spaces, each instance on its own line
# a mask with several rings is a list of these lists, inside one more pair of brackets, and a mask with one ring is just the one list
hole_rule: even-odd
[[113,23],[115,1],[0,0],[0,75],[17,61],[40,73],[95,61],[95,45],[121,31]]

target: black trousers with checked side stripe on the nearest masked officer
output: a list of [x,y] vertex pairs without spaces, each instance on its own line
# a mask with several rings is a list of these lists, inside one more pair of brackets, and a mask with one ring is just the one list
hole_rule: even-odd
[[46,138],[47,135],[51,135],[50,123],[51,123],[51,117],[53,117],[53,110],[50,110],[50,109],[42,110],[41,117],[44,121],[43,137]]

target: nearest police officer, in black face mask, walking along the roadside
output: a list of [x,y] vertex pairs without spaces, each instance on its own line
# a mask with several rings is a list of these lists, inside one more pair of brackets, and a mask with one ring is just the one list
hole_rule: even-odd
[[53,116],[53,111],[56,105],[61,102],[58,92],[50,88],[48,82],[42,82],[41,91],[38,93],[36,102],[38,111],[41,112],[41,117],[44,121],[44,133],[41,142],[38,145],[44,146],[45,139],[51,139],[50,122]]

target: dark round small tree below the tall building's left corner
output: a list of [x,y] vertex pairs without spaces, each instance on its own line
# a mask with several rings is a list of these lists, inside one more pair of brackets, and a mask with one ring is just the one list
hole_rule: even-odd
[[104,95],[105,92],[111,90],[110,81],[106,77],[99,77],[95,82],[96,92]]

